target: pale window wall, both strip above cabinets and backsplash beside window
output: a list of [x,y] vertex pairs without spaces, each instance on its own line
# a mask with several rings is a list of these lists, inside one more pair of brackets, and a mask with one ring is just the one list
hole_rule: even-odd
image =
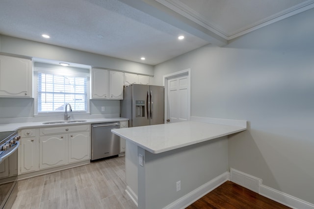
[[[0,35],[0,52],[114,70],[137,72],[147,75],[154,74],[153,66],[151,65],[4,35]],[[105,112],[101,112],[102,106],[106,107]],[[90,115],[112,116],[119,114],[120,101],[118,100],[90,100]],[[33,116],[34,99],[0,98],[0,119]]]

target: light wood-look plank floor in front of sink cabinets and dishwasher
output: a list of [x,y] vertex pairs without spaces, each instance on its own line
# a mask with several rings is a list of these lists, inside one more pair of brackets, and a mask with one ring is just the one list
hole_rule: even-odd
[[19,181],[13,209],[136,209],[126,194],[125,157]]

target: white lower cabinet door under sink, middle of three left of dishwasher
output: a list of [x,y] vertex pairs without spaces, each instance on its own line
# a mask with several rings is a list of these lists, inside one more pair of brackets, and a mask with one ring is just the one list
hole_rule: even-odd
[[66,135],[52,135],[40,137],[40,169],[67,163],[67,144],[65,136]]

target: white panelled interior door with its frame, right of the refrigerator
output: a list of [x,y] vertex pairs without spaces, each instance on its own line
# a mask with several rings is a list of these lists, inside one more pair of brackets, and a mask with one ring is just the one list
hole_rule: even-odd
[[188,73],[180,73],[166,79],[166,123],[190,119],[190,79]]

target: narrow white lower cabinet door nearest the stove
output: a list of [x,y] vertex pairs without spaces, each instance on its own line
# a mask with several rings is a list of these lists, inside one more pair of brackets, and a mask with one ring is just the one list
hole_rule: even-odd
[[[29,133],[29,132],[28,132]],[[22,138],[21,140],[21,173],[36,171],[38,167],[39,146],[35,138]]]

